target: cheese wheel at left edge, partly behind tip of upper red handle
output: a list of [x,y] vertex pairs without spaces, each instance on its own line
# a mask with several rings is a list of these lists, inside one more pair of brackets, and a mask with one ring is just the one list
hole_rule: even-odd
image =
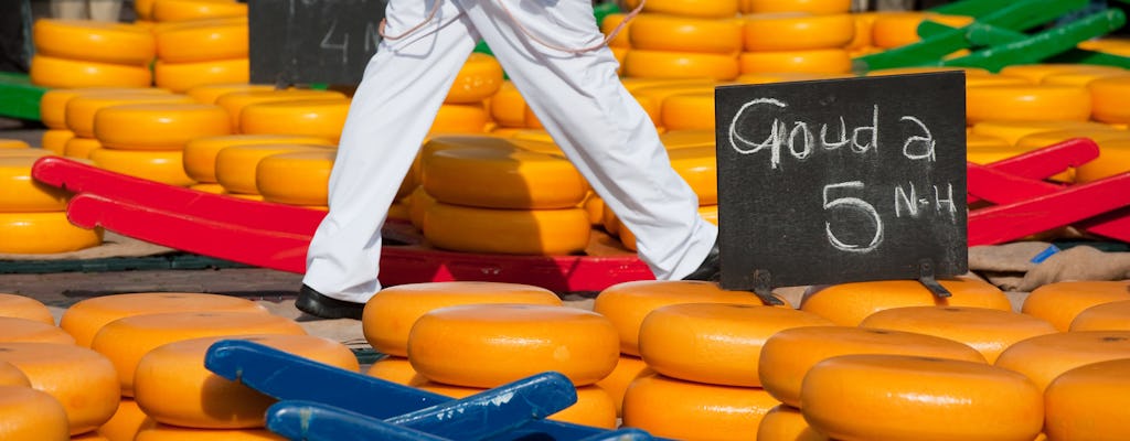
[[38,158],[0,157],[0,212],[66,211],[70,193],[32,179]]

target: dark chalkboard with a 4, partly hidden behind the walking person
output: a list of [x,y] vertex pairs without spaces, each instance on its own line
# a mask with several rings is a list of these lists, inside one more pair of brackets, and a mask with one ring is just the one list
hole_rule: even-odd
[[249,0],[251,81],[356,85],[385,0]]

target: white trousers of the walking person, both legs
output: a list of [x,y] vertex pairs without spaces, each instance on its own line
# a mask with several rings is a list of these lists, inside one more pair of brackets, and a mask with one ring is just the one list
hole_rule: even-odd
[[[386,35],[424,23],[435,1],[441,0],[391,0]],[[330,176],[330,212],[310,245],[303,282],[354,302],[381,289],[381,224],[480,37],[593,191],[635,233],[640,257],[655,277],[695,271],[718,228],[698,215],[697,196],[671,168],[651,120],[619,81],[611,51],[566,53],[514,27],[520,20],[556,46],[592,46],[603,35],[591,1],[442,1],[424,27],[383,41],[365,69]]]

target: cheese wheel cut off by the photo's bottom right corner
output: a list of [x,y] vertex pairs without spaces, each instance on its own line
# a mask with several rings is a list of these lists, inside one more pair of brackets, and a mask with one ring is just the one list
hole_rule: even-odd
[[1044,432],[1053,440],[1125,440],[1128,405],[1130,359],[1085,364],[1048,386]]

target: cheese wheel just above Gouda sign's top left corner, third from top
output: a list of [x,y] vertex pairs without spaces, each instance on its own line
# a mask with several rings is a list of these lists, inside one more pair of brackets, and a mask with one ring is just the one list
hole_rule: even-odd
[[732,54],[632,50],[624,60],[624,72],[628,77],[732,80],[739,68]]

